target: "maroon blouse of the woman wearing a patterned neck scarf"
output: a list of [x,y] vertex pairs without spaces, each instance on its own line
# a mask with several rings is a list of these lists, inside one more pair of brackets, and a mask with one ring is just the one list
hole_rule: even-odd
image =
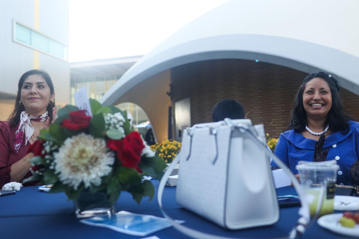
[[[10,182],[11,164],[18,162],[27,155],[27,149],[31,145],[23,143],[17,153],[14,147],[14,137],[17,126],[10,127],[8,121],[0,121],[0,189],[5,183]],[[24,140],[25,142],[25,140]],[[29,171],[24,178],[32,175]],[[24,179],[23,178],[23,179]],[[24,186],[35,185],[36,182],[27,183]]]

